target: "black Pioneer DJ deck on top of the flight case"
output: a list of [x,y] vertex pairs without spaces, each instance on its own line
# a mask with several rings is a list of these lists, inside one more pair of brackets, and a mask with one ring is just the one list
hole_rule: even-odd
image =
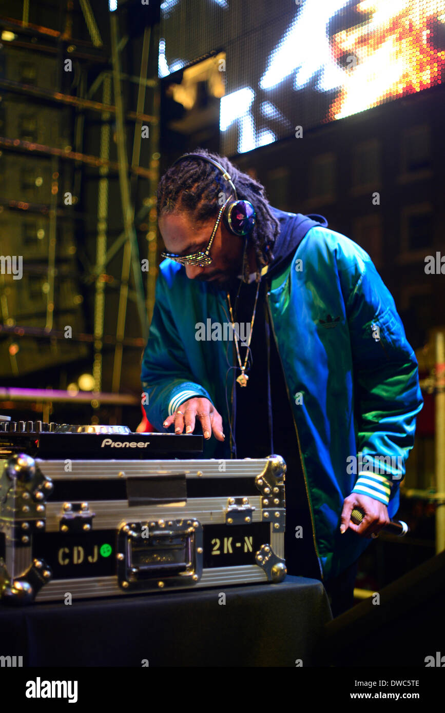
[[203,436],[133,434],[128,426],[72,426],[44,421],[0,420],[0,457],[27,453],[34,458],[150,459],[193,457],[203,452]]

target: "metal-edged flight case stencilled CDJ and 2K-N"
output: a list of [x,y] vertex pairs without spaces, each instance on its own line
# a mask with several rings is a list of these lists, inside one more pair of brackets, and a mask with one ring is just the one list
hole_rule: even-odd
[[[154,434],[143,435],[153,443]],[[160,443],[176,439],[176,448],[202,438],[155,435]],[[88,456],[103,440],[91,434]],[[41,457],[48,452],[28,446],[26,453],[21,443],[21,452],[0,461],[1,602],[285,578],[286,466],[280,456],[217,461],[164,452],[145,459],[140,434],[106,440],[118,457],[104,457],[108,451],[100,458],[53,457],[57,449]]]

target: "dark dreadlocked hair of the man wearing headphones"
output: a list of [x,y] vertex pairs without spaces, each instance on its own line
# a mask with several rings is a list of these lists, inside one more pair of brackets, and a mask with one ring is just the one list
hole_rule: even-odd
[[[255,208],[255,225],[250,232],[249,242],[255,248],[259,270],[273,260],[272,249],[280,232],[280,223],[272,215],[265,188],[247,173],[242,173],[228,158],[218,153],[210,153],[205,148],[197,148],[190,153],[200,153],[220,163],[232,179],[238,200],[249,200]],[[223,174],[213,164],[199,158],[183,158],[164,173],[158,183],[158,217],[175,212],[187,212],[196,222],[216,217],[225,202],[230,185]],[[245,260],[242,266],[243,279],[249,280],[249,266]]]

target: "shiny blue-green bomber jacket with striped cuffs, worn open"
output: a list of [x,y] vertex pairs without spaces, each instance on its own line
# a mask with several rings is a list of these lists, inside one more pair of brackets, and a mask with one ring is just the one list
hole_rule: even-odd
[[[287,217],[292,225],[300,215],[273,210],[282,228]],[[344,498],[362,493],[387,504],[389,517],[397,513],[423,404],[418,364],[369,255],[327,227],[310,227],[291,260],[270,277],[267,304],[327,580],[369,544],[352,530],[340,534]],[[205,396],[229,432],[226,345],[195,339],[195,325],[209,317],[227,322],[226,293],[164,260],[141,374],[144,408],[158,431],[183,401]],[[218,458],[230,458],[227,441],[212,436],[203,458],[215,457],[217,449]]]

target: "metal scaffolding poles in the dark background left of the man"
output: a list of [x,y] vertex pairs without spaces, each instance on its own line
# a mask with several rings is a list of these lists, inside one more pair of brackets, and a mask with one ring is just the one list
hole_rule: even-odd
[[[89,266],[86,275],[83,277],[85,284],[94,285],[94,308],[93,308],[93,334],[83,334],[76,337],[78,341],[93,342],[93,378],[94,392],[98,394],[97,401],[100,403],[100,392],[103,389],[103,348],[104,346],[114,347],[113,370],[111,380],[111,390],[118,393],[121,390],[121,375],[123,361],[123,347],[133,343],[135,348],[146,342],[148,337],[148,325],[153,312],[155,278],[156,278],[156,253],[157,253],[157,232],[155,229],[155,189],[158,183],[159,165],[159,86],[157,77],[148,77],[148,66],[150,51],[156,53],[159,36],[158,26],[146,26],[143,31],[142,48],[140,52],[139,76],[126,73],[122,69],[122,53],[128,43],[128,36],[119,37],[118,14],[109,13],[111,30],[111,48],[106,48],[103,41],[106,28],[96,21],[96,16],[89,0],[79,0],[83,20],[91,37],[91,42],[71,37],[73,26],[71,10],[73,4],[68,3],[61,9],[58,31],[44,26],[37,26],[29,23],[29,0],[24,0],[22,20],[11,18],[1,18],[0,26],[14,33],[16,41],[11,43],[11,48],[15,45],[22,51],[26,48],[29,52],[43,52],[48,56],[57,58],[58,83],[57,88],[43,88],[15,81],[9,77],[0,78],[0,90],[4,89],[10,94],[26,96],[29,101],[39,102],[47,106],[72,108],[75,114],[73,130],[73,149],[71,146],[59,148],[56,145],[46,145],[24,140],[20,136],[5,135],[0,136],[0,148],[7,152],[22,153],[27,156],[48,157],[51,163],[51,175],[53,176],[53,190],[51,200],[45,205],[36,204],[21,200],[21,196],[14,197],[14,200],[4,200],[2,202],[6,210],[26,211],[27,215],[41,214],[48,218],[48,255],[46,265],[46,282],[48,290],[46,292],[46,318],[41,327],[30,327],[28,324],[21,324],[12,320],[14,324],[4,324],[3,333],[14,334],[14,338],[29,337],[31,333],[38,335],[39,339],[60,340],[60,329],[55,329],[53,322],[54,315],[54,286],[57,279],[56,251],[58,240],[58,221],[62,217],[67,217],[60,201],[59,183],[61,165],[66,162],[74,167],[74,182],[76,191],[80,191],[83,169],[93,168],[98,171],[97,190],[97,220],[96,220],[96,256],[93,265]],[[32,5],[32,4],[31,4]],[[71,6],[71,9],[70,9]],[[64,15],[62,13],[64,12]],[[111,52],[110,52],[111,49]],[[63,57],[69,56],[73,61],[78,61],[81,78],[77,83],[77,93],[70,94],[63,91],[61,67]],[[83,63],[83,65],[82,65]],[[88,68],[96,66],[100,69],[92,81],[88,76]],[[91,76],[91,73],[90,73]],[[89,82],[89,86],[88,86]],[[136,106],[126,106],[131,92],[123,91],[124,87],[136,83],[138,85]],[[101,91],[101,101],[93,98],[98,91]],[[145,105],[151,106],[153,111],[145,112]],[[88,130],[86,126],[86,112],[96,113],[101,121],[100,147],[98,155],[84,153],[84,135]],[[113,138],[116,140],[117,161],[111,160],[112,146],[112,126],[111,122],[116,122],[116,130]],[[131,160],[127,155],[128,123],[134,125],[133,130],[133,151]],[[141,167],[140,151],[142,141],[143,126],[148,125],[150,161],[148,168]],[[113,241],[109,239],[109,182],[113,176],[118,174],[121,207],[122,207],[122,231],[121,234],[113,236]],[[55,177],[55,178],[54,178]],[[138,199],[138,180],[148,180],[148,195],[144,198],[142,205],[135,210]],[[69,215],[69,214],[68,214]],[[71,219],[81,219],[76,215],[69,215]],[[154,225],[150,225],[153,224]],[[140,255],[137,230],[148,231],[145,235],[145,254]],[[120,275],[110,276],[110,263],[113,258],[121,257],[116,261],[120,265]],[[144,285],[141,270],[141,260],[148,260],[150,270],[147,271],[147,281]],[[118,285],[118,311],[113,317],[116,320],[116,334],[112,337],[106,334],[106,289],[113,279],[113,288]],[[126,318],[128,315],[128,300],[135,303],[140,325],[140,339],[125,337]],[[6,301],[5,301],[6,300]],[[8,300],[5,294],[2,295],[3,313],[11,317],[8,311]],[[11,322],[11,320],[9,320]],[[3,319],[2,322],[5,322]],[[0,327],[0,331],[1,331]],[[31,332],[30,332],[31,329]],[[15,355],[11,355],[15,359]]]

